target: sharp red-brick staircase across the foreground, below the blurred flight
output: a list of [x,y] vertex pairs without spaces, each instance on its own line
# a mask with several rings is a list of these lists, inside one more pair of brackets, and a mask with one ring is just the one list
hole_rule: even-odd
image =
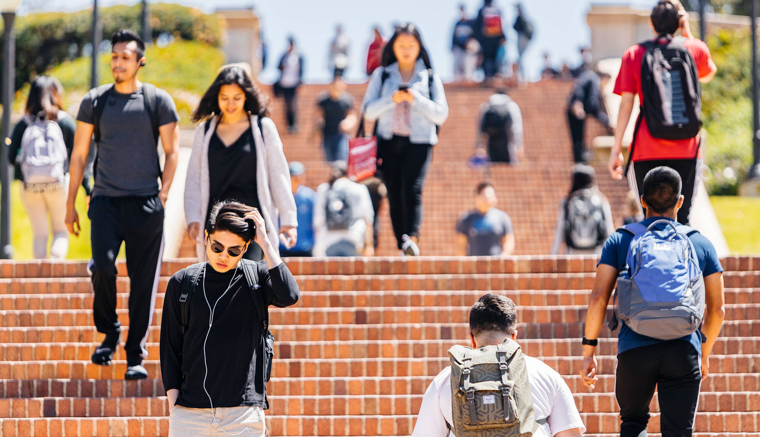
[[[347,258],[287,260],[299,303],[271,309],[277,338],[267,411],[271,435],[409,435],[446,350],[467,338],[472,303],[492,291],[519,306],[518,340],[560,372],[589,435],[613,435],[616,340],[600,340],[600,381],[581,385],[581,336],[594,280],[590,257]],[[89,363],[102,340],[91,327],[82,262],[0,262],[0,429],[16,435],[167,435],[160,382],[163,290],[189,260],[163,264],[150,327],[147,380],[125,382]],[[760,257],[724,258],[726,324],[702,384],[696,435],[760,435]],[[119,264],[119,316],[128,280]],[[128,328],[127,328],[128,329]],[[659,432],[657,401],[650,431]]]

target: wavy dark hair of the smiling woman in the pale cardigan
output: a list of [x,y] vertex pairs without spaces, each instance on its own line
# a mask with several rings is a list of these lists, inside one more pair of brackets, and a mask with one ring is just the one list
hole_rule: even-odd
[[267,99],[259,93],[258,88],[253,84],[248,73],[242,68],[233,65],[224,68],[219,72],[217,78],[211,87],[208,87],[206,93],[201,97],[201,103],[192,114],[193,122],[200,122],[214,114],[220,114],[222,111],[219,107],[219,90],[222,85],[237,85],[245,93],[245,103],[243,109],[251,112],[255,116],[266,117],[269,115]]

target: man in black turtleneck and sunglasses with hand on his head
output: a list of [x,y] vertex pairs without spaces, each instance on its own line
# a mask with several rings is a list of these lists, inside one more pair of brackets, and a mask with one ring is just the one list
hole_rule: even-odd
[[[208,261],[169,280],[160,347],[169,435],[217,428],[264,435],[271,369],[266,310],[292,306],[300,295],[266,226],[255,208],[218,202],[206,226]],[[251,241],[264,251],[258,264],[242,260]]]

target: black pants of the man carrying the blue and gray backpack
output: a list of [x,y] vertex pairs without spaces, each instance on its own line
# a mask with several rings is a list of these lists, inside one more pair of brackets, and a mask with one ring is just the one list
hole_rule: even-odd
[[635,347],[618,355],[615,395],[620,437],[645,437],[657,386],[663,437],[690,437],[699,401],[700,357],[684,340]]

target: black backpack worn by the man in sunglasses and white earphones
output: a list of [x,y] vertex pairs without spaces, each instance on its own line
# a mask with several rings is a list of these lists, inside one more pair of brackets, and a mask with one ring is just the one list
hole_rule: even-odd
[[[192,297],[195,287],[198,285],[198,278],[203,272],[205,262],[199,262],[198,264],[192,264],[185,269],[185,276],[182,277],[182,292],[179,295],[179,331],[185,334],[188,327],[188,321],[190,320],[190,306],[188,300]],[[242,267],[243,274],[245,274],[245,280],[248,282],[249,289],[251,290],[251,298],[253,299],[254,306],[256,307],[256,313],[258,318],[261,319],[264,324],[264,373],[266,382],[269,382],[269,378],[272,375],[272,359],[274,358],[274,334],[269,331],[269,306],[267,302],[264,302],[264,296],[260,292],[261,285],[258,283],[258,263],[255,261],[249,261],[247,259],[241,259],[240,265]]]

